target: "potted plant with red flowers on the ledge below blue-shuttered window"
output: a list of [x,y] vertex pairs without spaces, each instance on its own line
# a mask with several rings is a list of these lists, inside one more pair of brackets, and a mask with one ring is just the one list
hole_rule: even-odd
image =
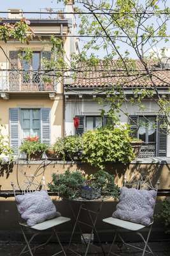
[[27,159],[39,160],[45,152],[47,146],[39,141],[38,136],[28,137],[20,145],[20,152],[25,153]]

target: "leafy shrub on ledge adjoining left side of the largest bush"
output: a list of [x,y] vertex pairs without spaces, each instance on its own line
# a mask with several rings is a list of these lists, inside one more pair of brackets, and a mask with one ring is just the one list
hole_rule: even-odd
[[64,155],[67,160],[80,160],[83,150],[81,136],[66,136],[64,140]]

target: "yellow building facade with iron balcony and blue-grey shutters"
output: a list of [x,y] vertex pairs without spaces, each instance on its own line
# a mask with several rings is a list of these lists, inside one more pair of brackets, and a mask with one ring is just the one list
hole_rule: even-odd
[[[66,12],[73,11],[71,3]],[[24,16],[22,10],[9,10],[8,17],[1,20],[14,24]],[[48,15],[49,16],[49,15]],[[51,36],[63,38],[67,61],[71,52],[77,51],[76,39],[65,37],[74,29],[74,16],[61,11],[52,17],[29,19],[34,38],[29,45],[15,40],[1,42],[0,56],[0,122],[2,132],[9,138],[11,148],[18,154],[22,140],[28,136],[39,136],[43,143],[55,143],[64,135],[64,97],[62,79],[50,73],[46,81],[43,60],[50,60]],[[31,61],[22,58],[25,49],[32,51]]]

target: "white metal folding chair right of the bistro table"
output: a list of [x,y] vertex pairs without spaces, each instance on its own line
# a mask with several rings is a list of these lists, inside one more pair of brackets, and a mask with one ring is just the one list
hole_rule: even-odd
[[[128,184],[127,177],[126,176],[124,177],[124,186],[127,186],[127,188],[147,189],[147,190],[155,189],[155,191],[157,191],[158,185],[159,185],[159,181],[157,182],[156,188],[153,188],[152,182],[151,182],[150,178],[147,176],[143,176],[143,177],[141,176],[138,181],[132,182],[131,184]],[[115,236],[113,237],[113,241],[111,243],[110,250],[108,252],[108,256],[110,255],[110,253],[112,253],[113,255],[118,255],[117,253],[111,252],[111,250],[113,248],[113,244],[115,243],[117,237],[119,237],[120,241],[123,244],[125,244],[126,246],[131,246],[132,248],[136,248],[136,249],[140,250],[142,252],[142,256],[145,255],[145,252],[151,253],[153,255],[153,252],[152,252],[150,246],[148,246],[148,240],[150,237],[150,233],[152,231],[153,220],[149,226],[144,226],[144,225],[141,225],[138,223],[133,223],[131,221],[124,221],[124,220],[120,220],[118,218],[113,218],[113,217],[105,218],[105,219],[103,219],[103,221],[105,223],[108,223],[115,227]],[[146,227],[148,228],[148,234],[145,238],[145,237],[143,237],[143,234],[141,234],[140,230],[142,230],[143,228],[146,228]],[[136,234],[138,234],[138,236],[140,236],[142,241],[144,242],[144,244],[145,244],[144,248],[139,248],[132,244],[126,243],[119,232],[120,229],[122,229],[122,228],[125,230],[129,230],[129,232],[136,232]],[[148,249],[148,250],[146,250],[146,249]]]

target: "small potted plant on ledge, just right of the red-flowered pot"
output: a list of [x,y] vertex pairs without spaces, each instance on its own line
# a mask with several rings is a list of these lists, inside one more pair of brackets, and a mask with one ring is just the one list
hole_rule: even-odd
[[62,160],[64,159],[64,140],[58,138],[52,147],[48,147],[45,154],[49,160]]

